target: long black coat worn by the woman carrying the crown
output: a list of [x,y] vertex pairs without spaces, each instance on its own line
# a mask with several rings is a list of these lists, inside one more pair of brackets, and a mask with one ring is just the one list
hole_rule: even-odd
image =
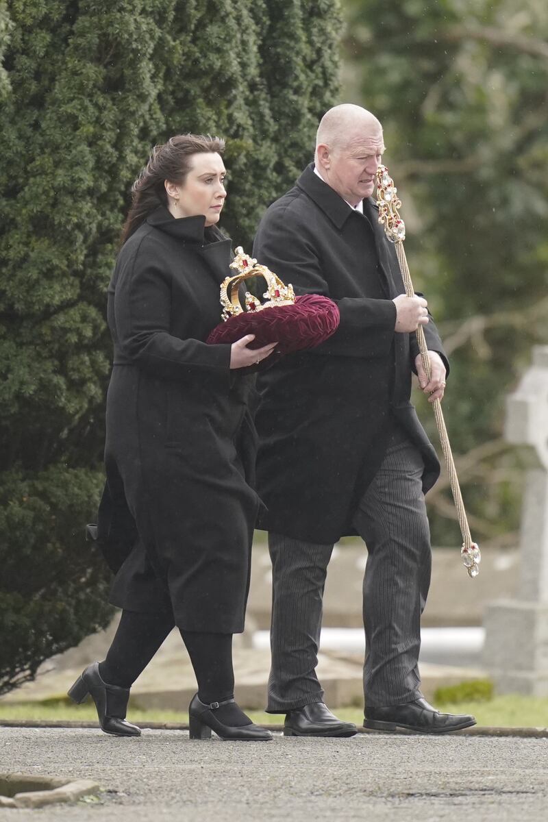
[[254,376],[230,371],[230,345],[205,344],[231,248],[204,225],[159,207],[118,256],[99,537],[114,566],[127,555],[113,604],[173,607],[183,630],[233,633],[244,626],[259,506],[248,482],[256,390]]

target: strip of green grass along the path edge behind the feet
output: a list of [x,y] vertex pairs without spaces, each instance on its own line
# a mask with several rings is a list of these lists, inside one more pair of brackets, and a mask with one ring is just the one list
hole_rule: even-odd
[[[468,700],[457,703],[436,703],[436,707],[448,713],[473,713],[478,725],[498,727],[548,727],[548,698],[531,696],[494,696],[490,700]],[[248,711],[254,722],[261,725],[283,722],[280,714]],[[335,713],[361,725],[363,713],[360,708],[338,708]],[[96,720],[94,706],[68,704],[63,700],[45,700],[44,702],[10,703],[0,702],[0,719],[73,719]],[[187,723],[188,714],[167,710],[142,710],[131,708],[128,718],[137,724],[149,722]]]

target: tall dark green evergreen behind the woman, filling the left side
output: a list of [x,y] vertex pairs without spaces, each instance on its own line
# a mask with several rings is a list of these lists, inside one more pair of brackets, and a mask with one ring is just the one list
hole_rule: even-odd
[[226,137],[223,226],[251,247],[334,102],[337,33],[334,0],[0,0],[4,690],[108,619],[81,529],[98,501],[105,293],[131,182],[174,133]]

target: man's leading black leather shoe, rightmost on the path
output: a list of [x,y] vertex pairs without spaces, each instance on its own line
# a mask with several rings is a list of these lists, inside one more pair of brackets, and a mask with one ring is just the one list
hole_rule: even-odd
[[428,704],[424,697],[403,705],[388,705],[386,708],[367,708],[363,727],[375,731],[406,731],[417,733],[449,733],[476,724],[470,713],[440,713]]

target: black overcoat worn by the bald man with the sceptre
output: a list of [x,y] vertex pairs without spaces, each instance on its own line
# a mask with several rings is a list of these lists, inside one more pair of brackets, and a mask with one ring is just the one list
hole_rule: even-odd
[[[313,169],[269,207],[253,256],[296,293],[334,299],[340,326],[316,349],[288,355],[260,376],[257,490],[268,508],[261,528],[333,543],[356,533],[352,514],[394,420],[421,450],[425,491],[440,464],[410,403],[417,339],[394,333],[392,300],[405,289],[375,201],[364,201],[361,215]],[[444,357],[432,321],[425,334]]]

